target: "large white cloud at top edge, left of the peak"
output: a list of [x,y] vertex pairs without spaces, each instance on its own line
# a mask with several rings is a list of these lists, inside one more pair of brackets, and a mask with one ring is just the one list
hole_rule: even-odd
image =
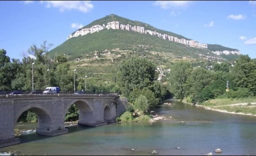
[[83,13],[87,13],[93,9],[93,4],[91,4],[90,0],[45,0],[40,2],[45,3],[47,8],[59,8],[61,12],[75,9]]

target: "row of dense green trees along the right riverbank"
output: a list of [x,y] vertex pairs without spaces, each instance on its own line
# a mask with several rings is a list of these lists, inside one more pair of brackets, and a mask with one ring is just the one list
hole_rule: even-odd
[[178,62],[172,65],[169,78],[175,98],[186,98],[194,104],[216,97],[255,96],[256,59],[242,55],[234,64],[216,63],[212,69],[193,68],[189,62]]

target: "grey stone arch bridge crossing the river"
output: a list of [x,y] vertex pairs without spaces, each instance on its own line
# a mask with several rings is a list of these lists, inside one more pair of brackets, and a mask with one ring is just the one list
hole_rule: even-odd
[[68,133],[64,121],[72,104],[79,108],[79,125],[96,127],[115,122],[115,118],[125,111],[127,100],[119,99],[117,95],[0,95],[0,147],[20,143],[20,139],[14,136],[14,126],[28,109],[38,117],[37,134],[55,136]]

